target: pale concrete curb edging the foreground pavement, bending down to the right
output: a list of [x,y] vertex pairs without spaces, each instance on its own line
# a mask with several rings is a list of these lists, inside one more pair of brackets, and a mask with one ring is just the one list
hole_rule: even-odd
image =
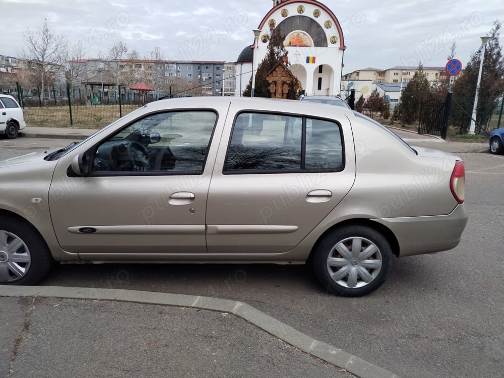
[[0,297],[42,297],[134,302],[195,307],[228,312],[254,324],[278,339],[362,378],[398,378],[398,375],[315,340],[244,302],[196,295],[150,291],[59,286],[0,286]]

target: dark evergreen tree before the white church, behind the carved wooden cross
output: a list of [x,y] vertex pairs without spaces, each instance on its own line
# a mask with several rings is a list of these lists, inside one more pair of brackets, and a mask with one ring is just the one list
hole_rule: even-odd
[[[282,35],[279,29],[270,28],[270,43],[268,44],[268,52],[257,68],[256,72],[256,86],[254,88],[254,97],[268,97],[271,98],[270,83],[266,80],[266,76],[273,70],[280,62],[283,62],[287,57],[287,50],[284,46],[285,36]],[[296,79],[294,83],[289,85],[287,93],[288,99],[297,99],[299,95],[300,84]],[[248,82],[243,96],[250,96],[252,90],[252,78]]]

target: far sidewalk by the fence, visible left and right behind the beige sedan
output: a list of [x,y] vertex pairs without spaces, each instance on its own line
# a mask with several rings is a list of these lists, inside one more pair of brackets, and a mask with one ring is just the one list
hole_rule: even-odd
[[[410,130],[389,128],[396,135],[412,146],[436,148],[452,153],[487,152],[487,143],[469,142],[446,142],[432,135],[420,135]],[[96,133],[99,129],[75,129],[75,128],[41,128],[28,126],[20,132],[27,138],[59,138],[71,140],[83,140]]]

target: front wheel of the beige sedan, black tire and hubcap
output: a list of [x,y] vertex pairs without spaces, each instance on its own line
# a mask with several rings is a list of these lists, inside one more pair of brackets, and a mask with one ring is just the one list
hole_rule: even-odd
[[28,222],[0,218],[0,285],[34,285],[54,264],[47,244]]

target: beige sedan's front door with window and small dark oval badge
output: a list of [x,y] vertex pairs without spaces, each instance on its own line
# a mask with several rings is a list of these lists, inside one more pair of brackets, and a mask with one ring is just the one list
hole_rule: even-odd
[[63,156],[49,191],[60,246],[97,259],[206,253],[216,124],[212,110],[141,117],[86,151],[89,177],[69,168],[75,153]]

